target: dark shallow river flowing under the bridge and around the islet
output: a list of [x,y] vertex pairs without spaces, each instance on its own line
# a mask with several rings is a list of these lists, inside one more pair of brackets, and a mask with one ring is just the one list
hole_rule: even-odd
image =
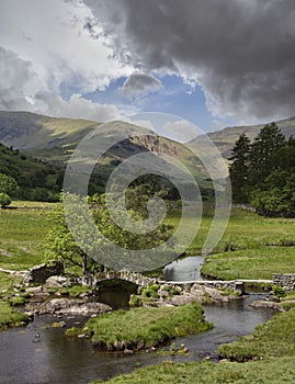
[[[189,259],[192,259],[190,262],[193,263],[193,258]],[[202,261],[195,260],[195,262]],[[171,278],[171,269],[173,269],[173,273],[178,273],[178,280],[194,280],[191,279],[192,269],[188,269],[188,259],[183,259],[171,264],[163,271],[164,275],[170,270]],[[194,268],[198,269],[195,264]],[[110,298],[110,292],[107,295]],[[138,366],[160,363],[167,359],[190,361],[202,360],[205,355],[211,355],[215,360],[218,345],[232,341],[241,335],[251,334],[258,324],[273,315],[271,309],[249,307],[249,303],[259,297],[261,295],[256,293],[220,306],[206,306],[205,316],[215,325],[214,329],[177,339],[175,343],[183,342],[191,353],[173,358],[158,355],[155,352],[122,355],[98,351],[92,348],[89,340],[68,339],[64,336],[65,328],[53,328],[52,324],[57,321],[56,317],[35,317],[35,320],[25,328],[0,332],[0,383],[87,384],[94,379],[107,380],[121,373],[131,372]],[[68,327],[80,326],[86,321],[84,318],[65,317],[63,319]],[[36,338],[36,335],[39,335],[39,338]],[[169,349],[169,347],[163,349]]]

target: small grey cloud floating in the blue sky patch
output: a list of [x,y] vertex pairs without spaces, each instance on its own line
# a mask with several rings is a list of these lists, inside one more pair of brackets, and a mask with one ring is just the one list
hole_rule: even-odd
[[136,99],[149,92],[158,91],[161,87],[161,82],[154,76],[133,74],[126,79],[120,91],[128,99]]

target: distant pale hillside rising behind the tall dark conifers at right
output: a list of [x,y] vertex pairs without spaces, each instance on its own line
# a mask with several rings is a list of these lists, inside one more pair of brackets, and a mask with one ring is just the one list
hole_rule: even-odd
[[[295,116],[277,121],[276,124],[286,137],[295,136]],[[245,133],[252,140],[264,125],[226,127],[223,131],[209,133],[208,137],[215,143],[222,155],[228,158],[239,135]]]

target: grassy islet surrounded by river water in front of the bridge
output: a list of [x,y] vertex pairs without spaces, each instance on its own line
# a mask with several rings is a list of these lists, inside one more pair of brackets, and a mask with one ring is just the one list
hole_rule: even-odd
[[[202,306],[192,303],[178,307],[121,309],[100,315],[88,320],[82,334],[93,335],[93,343],[103,349],[140,350],[211,328]],[[73,332],[70,329],[67,334]]]

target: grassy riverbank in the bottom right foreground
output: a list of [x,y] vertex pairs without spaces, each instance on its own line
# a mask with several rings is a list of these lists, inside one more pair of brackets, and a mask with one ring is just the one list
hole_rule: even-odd
[[[258,326],[251,336],[219,347],[220,357],[245,363],[220,361],[174,363],[148,366],[114,377],[110,384],[277,384],[294,383],[295,309],[277,314]],[[101,381],[97,381],[102,383]]]

